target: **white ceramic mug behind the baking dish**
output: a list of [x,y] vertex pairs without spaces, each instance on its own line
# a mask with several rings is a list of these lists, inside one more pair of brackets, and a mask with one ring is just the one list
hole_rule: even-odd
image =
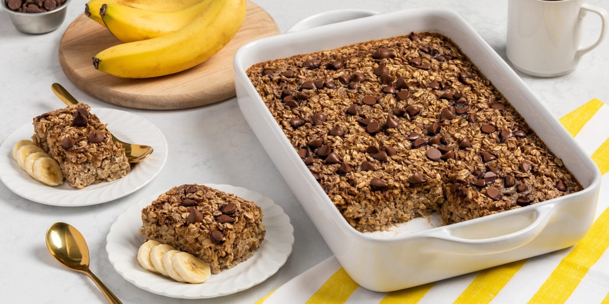
[[[582,47],[582,19],[587,12],[599,15],[602,27],[596,43]],[[582,55],[605,38],[608,25],[607,11],[585,0],[509,0],[507,57],[529,75],[569,74]]]

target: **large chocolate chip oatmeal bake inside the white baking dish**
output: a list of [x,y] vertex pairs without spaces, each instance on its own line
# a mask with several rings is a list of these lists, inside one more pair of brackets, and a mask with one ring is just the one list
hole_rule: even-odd
[[247,70],[351,226],[457,223],[582,185],[456,44],[410,33]]

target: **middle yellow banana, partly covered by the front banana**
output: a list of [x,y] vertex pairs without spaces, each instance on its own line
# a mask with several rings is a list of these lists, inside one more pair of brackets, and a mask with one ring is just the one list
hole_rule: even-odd
[[99,11],[104,24],[118,40],[133,42],[167,35],[188,25],[211,0],[177,12],[152,12],[121,4],[104,4]]

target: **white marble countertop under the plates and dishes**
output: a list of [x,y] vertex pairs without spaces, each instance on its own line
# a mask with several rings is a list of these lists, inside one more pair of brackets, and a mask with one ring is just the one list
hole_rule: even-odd
[[[3,0],[2,0],[3,1]],[[77,89],[63,74],[57,60],[59,40],[69,23],[83,12],[86,0],[73,0],[68,16],[55,32],[27,35],[0,12],[0,142],[33,116],[58,108],[51,83],[62,83],[79,100],[95,107],[115,108],[142,116],[158,126],[169,143],[163,171],[132,195],[88,207],[54,207],[23,199],[0,184],[0,229],[4,250],[0,254],[0,298],[3,303],[105,303],[90,279],[69,271],[55,261],[44,245],[44,232],[56,222],[77,227],[91,253],[91,269],[124,303],[253,303],[276,287],[332,255],[306,213],[281,178],[269,156],[250,130],[235,98],[194,109],[146,111],[101,102]],[[463,16],[505,60],[507,1],[487,0],[255,0],[266,9],[282,31],[294,22],[329,9],[362,8],[382,12],[421,6],[441,6]],[[609,10],[605,0],[588,0]],[[599,33],[599,19],[586,18],[586,41]],[[555,117],[593,97],[609,101],[609,41],[583,57],[576,71],[560,78],[524,81]],[[262,178],[261,178],[262,177]],[[110,225],[128,206],[143,196],[173,185],[192,182],[231,184],[255,190],[279,204],[290,216],[295,244],[287,263],[273,277],[247,291],[208,300],[171,299],[137,288],[114,271],[105,252]],[[13,248],[13,249],[10,249]]]

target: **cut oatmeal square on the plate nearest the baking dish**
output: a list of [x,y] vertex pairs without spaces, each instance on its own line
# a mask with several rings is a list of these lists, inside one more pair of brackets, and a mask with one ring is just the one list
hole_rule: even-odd
[[264,240],[262,209],[204,185],[181,185],[142,210],[139,234],[205,261],[211,273],[252,257]]

